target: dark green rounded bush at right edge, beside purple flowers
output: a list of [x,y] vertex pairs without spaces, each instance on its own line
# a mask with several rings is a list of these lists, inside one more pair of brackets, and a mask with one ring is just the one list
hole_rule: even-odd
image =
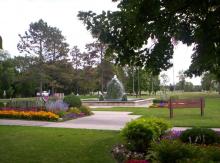
[[192,128],[183,131],[180,140],[184,143],[214,144],[219,142],[219,135],[212,129]]

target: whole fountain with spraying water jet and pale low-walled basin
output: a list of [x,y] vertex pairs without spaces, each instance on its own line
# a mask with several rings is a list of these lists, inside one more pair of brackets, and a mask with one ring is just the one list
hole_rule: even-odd
[[127,99],[123,84],[118,80],[117,76],[111,79],[107,84],[107,93],[101,94],[99,100],[82,100],[82,103],[90,107],[147,107],[152,103],[153,99]]

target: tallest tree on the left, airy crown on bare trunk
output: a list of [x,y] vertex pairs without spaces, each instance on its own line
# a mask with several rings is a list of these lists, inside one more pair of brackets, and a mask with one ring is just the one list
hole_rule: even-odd
[[47,61],[55,62],[60,59],[65,59],[69,51],[68,44],[65,43],[65,38],[61,31],[55,27],[48,26],[46,22],[40,19],[38,22],[31,23],[28,31],[25,34],[19,35],[20,42],[17,45],[18,50],[26,55],[37,57],[38,74],[36,79],[39,79],[40,92],[43,89],[43,83],[50,78],[46,74],[45,64]]

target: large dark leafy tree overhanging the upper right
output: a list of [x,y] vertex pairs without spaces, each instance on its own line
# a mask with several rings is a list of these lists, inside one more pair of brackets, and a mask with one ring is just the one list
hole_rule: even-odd
[[210,71],[220,81],[219,0],[113,0],[118,10],[79,12],[86,28],[121,64],[135,64],[159,74],[172,66],[178,41],[195,45],[187,74]]

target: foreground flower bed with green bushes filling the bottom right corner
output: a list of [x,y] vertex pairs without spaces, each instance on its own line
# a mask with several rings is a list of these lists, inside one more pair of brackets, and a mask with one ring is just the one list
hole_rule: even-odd
[[118,163],[220,162],[220,132],[195,127],[171,131],[161,119],[137,119],[121,131],[125,144],[113,147]]

